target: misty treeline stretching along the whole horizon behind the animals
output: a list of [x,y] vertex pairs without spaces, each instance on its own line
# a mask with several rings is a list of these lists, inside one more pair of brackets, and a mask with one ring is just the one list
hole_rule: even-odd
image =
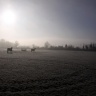
[[[8,47],[30,49],[30,46],[20,46],[18,41],[14,43],[0,39],[0,49],[6,49]],[[85,44],[82,47],[74,47],[73,45],[65,44],[65,46],[53,46],[48,41],[44,43],[43,47],[32,44],[31,48],[48,49],[48,50],[74,50],[74,51],[96,51],[96,44]]]

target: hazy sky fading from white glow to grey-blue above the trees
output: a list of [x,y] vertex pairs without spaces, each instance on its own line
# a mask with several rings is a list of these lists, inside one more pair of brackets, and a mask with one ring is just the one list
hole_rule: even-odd
[[[7,9],[15,16],[11,24],[2,20]],[[96,0],[0,0],[1,38],[26,45],[95,42]]]

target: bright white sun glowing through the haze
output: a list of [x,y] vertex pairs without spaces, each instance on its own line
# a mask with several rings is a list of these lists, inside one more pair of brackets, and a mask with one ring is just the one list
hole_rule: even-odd
[[14,13],[14,11],[11,9],[4,10],[2,13],[2,22],[8,25],[15,23],[16,14]]

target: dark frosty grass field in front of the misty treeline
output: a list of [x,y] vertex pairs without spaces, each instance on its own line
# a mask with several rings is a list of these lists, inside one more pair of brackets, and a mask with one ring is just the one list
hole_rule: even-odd
[[0,51],[0,96],[96,96],[96,52]]

